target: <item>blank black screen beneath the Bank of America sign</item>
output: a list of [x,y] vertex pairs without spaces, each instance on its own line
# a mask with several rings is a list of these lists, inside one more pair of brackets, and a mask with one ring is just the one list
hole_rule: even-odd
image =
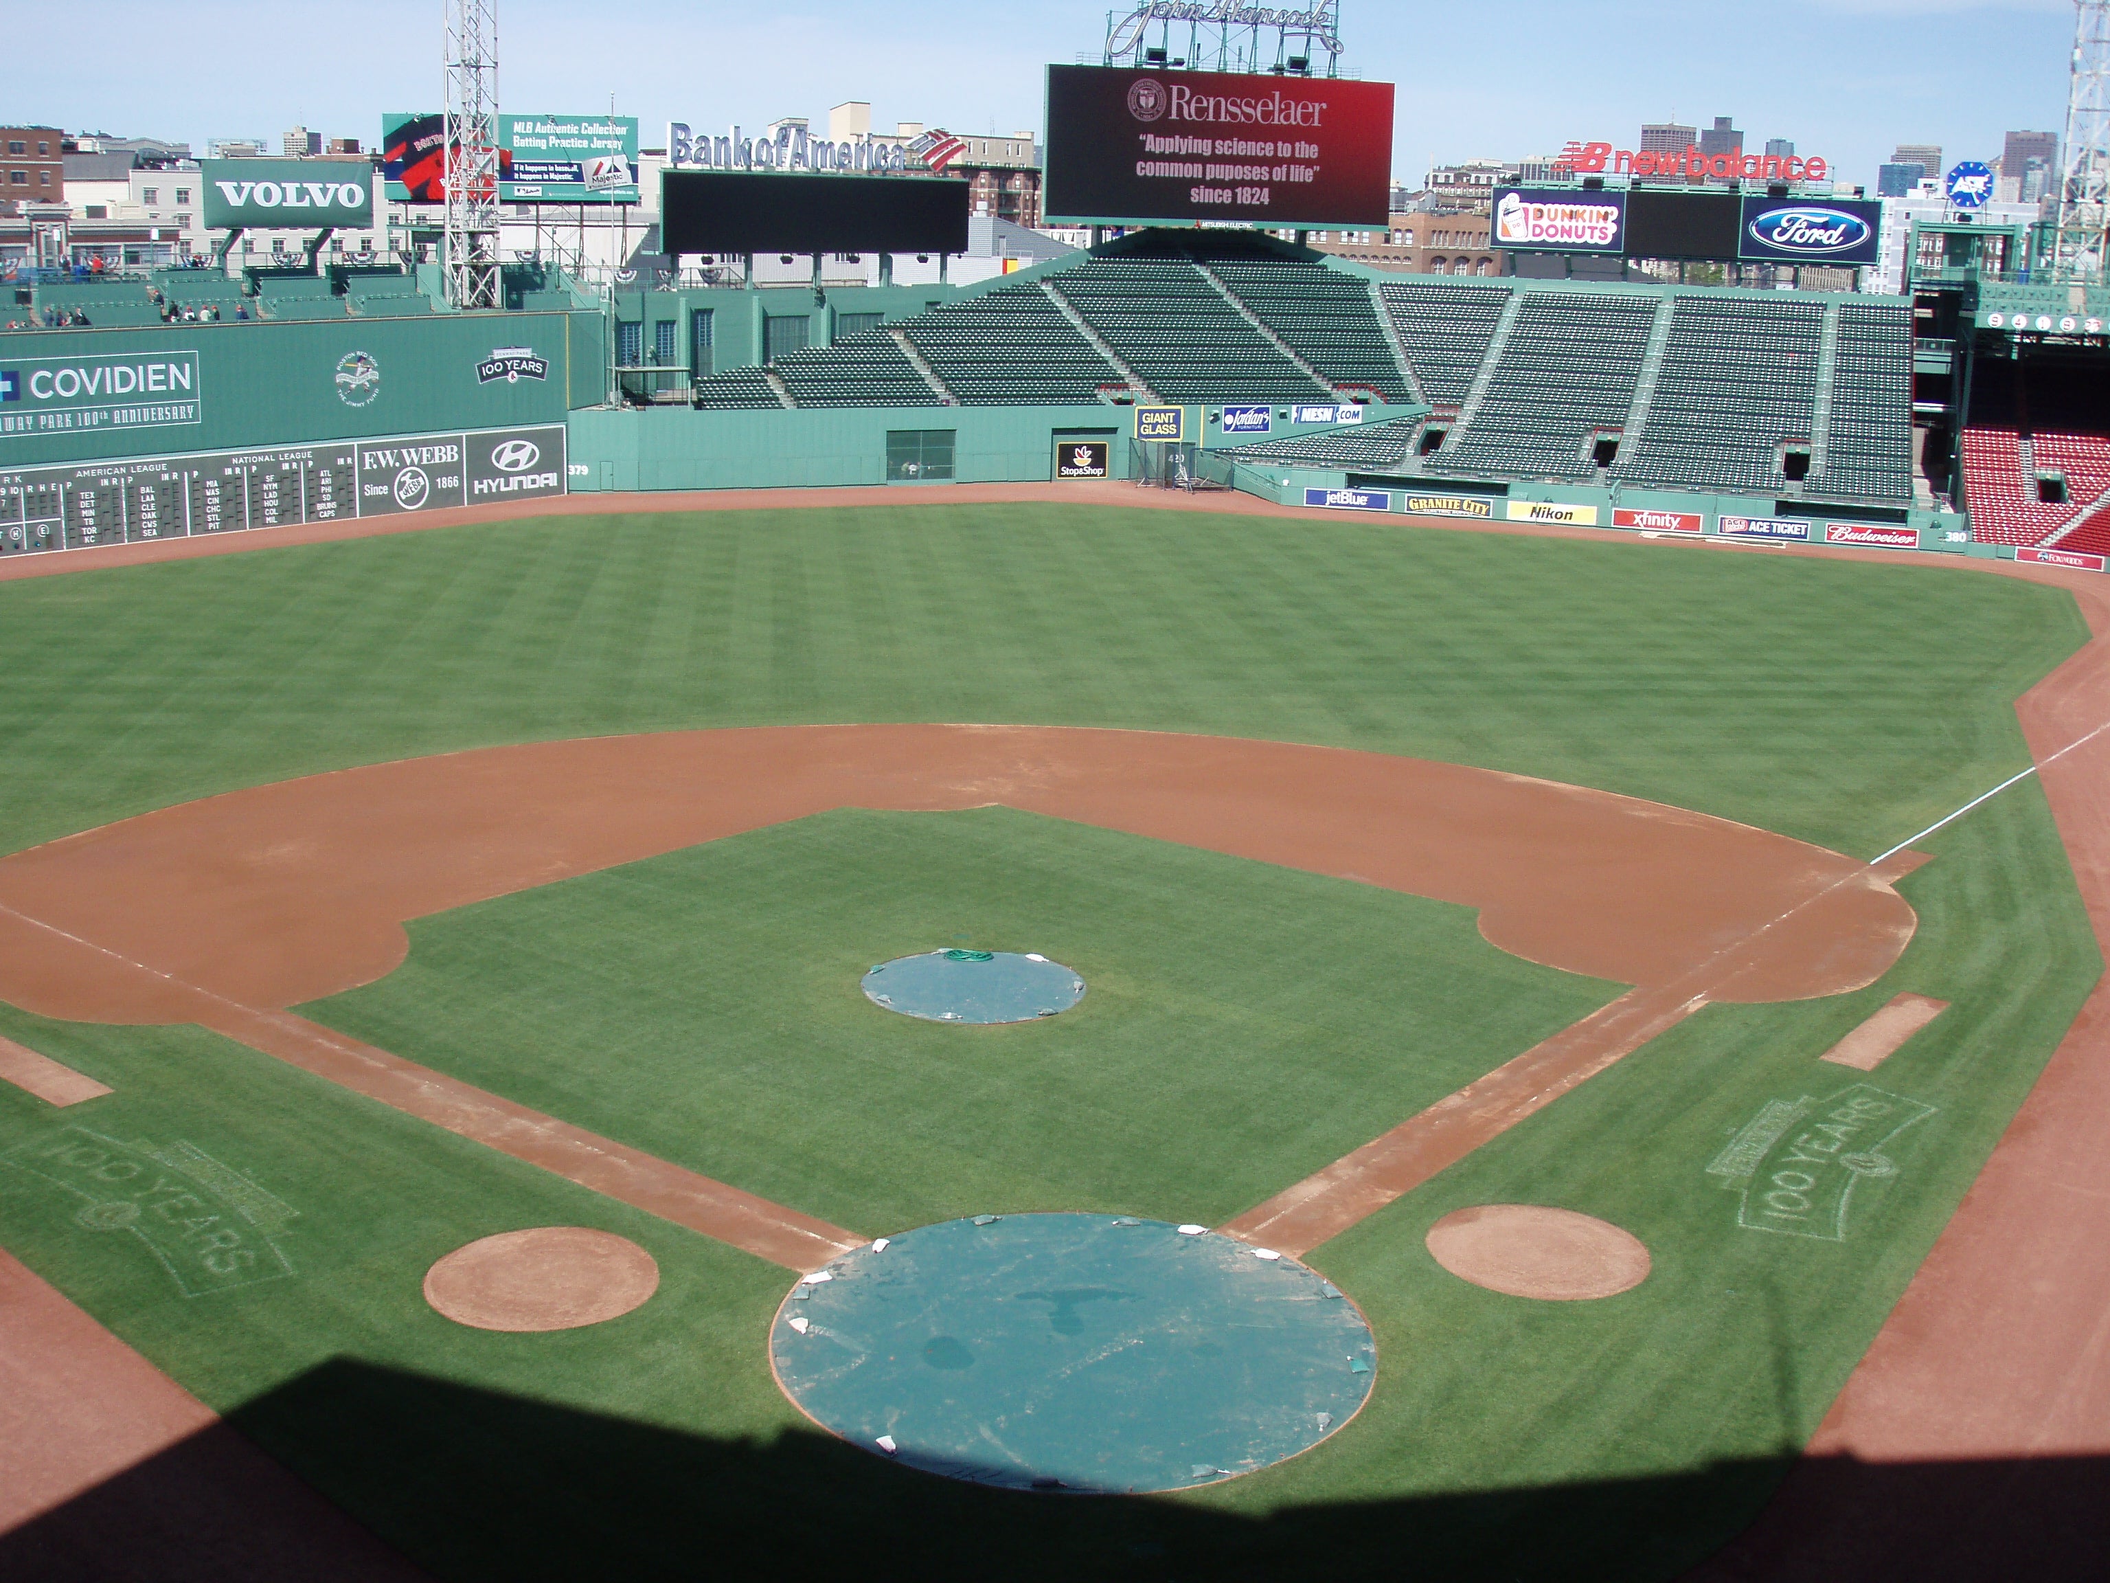
[[964,253],[966,182],[665,171],[667,253]]

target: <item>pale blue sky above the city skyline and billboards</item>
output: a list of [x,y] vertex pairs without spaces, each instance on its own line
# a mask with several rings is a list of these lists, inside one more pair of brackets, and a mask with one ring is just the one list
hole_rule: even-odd
[[[1097,51],[1120,0],[500,0],[500,101],[724,129],[869,99],[874,120],[952,131],[1040,122],[1040,68]],[[93,40],[42,53],[6,114],[184,137],[306,125],[371,141],[382,110],[439,108],[441,0],[359,6],[99,0]],[[1990,158],[2007,129],[2061,131],[2068,0],[1553,4],[1344,0],[1344,63],[1399,84],[1393,169],[1513,158],[1570,137],[1631,148],[1642,120],[1732,116],[1874,182],[1899,141]]]

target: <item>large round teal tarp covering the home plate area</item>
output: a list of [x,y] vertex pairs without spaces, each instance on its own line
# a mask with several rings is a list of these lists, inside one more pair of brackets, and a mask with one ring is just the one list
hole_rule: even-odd
[[1203,1226],[975,1216],[802,1279],[770,1363],[823,1429],[1019,1490],[1152,1492],[1251,1473],[1340,1429],[1376,1342],[1323,1275]]

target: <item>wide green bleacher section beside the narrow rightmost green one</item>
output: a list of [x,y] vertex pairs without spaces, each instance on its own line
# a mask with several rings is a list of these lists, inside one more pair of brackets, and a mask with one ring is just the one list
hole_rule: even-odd
[[1779,490],[1781,443],[1808,443],[1817,426],[1823,304],[1692,291],[1671,314],[1648,426],[1612,473],[1629,483]]

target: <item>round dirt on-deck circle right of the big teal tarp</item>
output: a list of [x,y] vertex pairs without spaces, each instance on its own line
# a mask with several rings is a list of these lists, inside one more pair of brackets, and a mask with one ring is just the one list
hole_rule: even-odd
[[1454,1209],[1428,1228],[1428,1252],[1460,1281],[1513,1298],[1610,1298],[1648,1279],[1639,1237],[1610,1220],[1536,1203]]

